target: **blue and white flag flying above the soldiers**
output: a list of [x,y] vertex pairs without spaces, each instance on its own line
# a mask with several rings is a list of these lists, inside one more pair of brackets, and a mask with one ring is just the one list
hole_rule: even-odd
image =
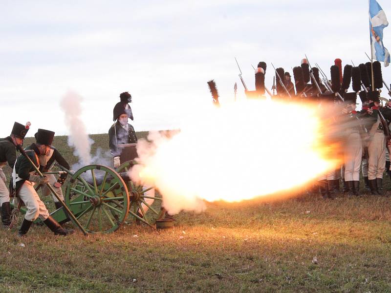
[[369,32],[372,59],[384,62],[388,66],[391,62],[390,53],[383,44],[383,29],[388,26],[386,14],[376,0],[369,0]]

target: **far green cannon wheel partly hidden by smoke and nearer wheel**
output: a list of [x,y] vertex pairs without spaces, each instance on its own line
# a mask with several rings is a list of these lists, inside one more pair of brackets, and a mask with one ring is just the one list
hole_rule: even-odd
[[[118,173],[120,172],[128,172],[131,167],[137,164],[137,161],[128,161],[123,163],[121,166],[119,166],[116,171]],[[162,198],[156,197],[156,196],[148,196],[145,193],[152,189],[153,187],[145,188],[144,185],[138,185],[134,184],[131,180],[127,183],[128,184],[128,190],[129,190],[129,196],[130,196],[130,207],[129,207],[129,213],[133,216],[133,221],[141,221],[144,224],[147,224],[148,226],[154,228],[152,225],[154,223],[154,219],[158,218],[160,216],[160,210],[156,210],[151,205],[149,205],[146,202],[146,199],[153,199],[153,200],[159,200],[161,201]],[[147,211],[144,211],[143,205],[148,207]],[[137,215],[137,211],[143,217],[139,217]]]

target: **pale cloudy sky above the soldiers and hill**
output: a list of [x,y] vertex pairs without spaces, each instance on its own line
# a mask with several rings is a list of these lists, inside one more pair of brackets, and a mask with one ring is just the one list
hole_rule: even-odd
[[[391,2],[379,0],[391,19]],[[1,1],[0,137],[14,121],[30,121],[68,134],[60,101],[78,93],[87,131],[106,133],[119,94],[132,95],[136,131],[175,129],[189,113],[212,103],[214,79],[220,103],[245,99],[239,81],[255,89],[251,64],[273,68],[300,64],[304,54],[329,76],[334,59],[343,66],[367,62],[367,0]],[[384,31],[391,50],[391,27]],[[382,67],[391,83],[391,66]],[[382,96],[387,96],[386,89]],[[233,118],[235,119],[235,118]]]

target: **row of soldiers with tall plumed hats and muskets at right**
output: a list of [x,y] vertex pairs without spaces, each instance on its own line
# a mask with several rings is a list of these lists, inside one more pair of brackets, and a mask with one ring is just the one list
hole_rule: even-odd
[[[325,199],[334,198],[341,190],[342,179],[344,192],[359,195],[361,166],[366,188],[373,195],[382,194],[386,153],[390,153],[391,103],[385,106],[380,103],[383,87],[381,64],[377,61],[373,64],[362,63],[357,67],[347,64],[342,71],[341,59],[335,59],[330,67],[331,80],[326,79],[323,71],[321,79],[319,68],[310,68],[306,59],[301,61],[300,66],[292,69],[295,84],[283,68],[275,69],[277,95],[272,95],[271,98],[318,103],[328,110],[331,107],[331,112],[335,113],[327,117],[331,120],[330,128],[333,129],[327,130],[327,143],[340,146],[332,156],[343,157],[343,164],[318,178],[314,188]],[[247,98],[265,98],[265,73],[266,63],[258,63],[255,70],[256,90],[245,90]],[[348,92],[350,84],[352,92]],[[357,95],[362,103],[360,111],[356,111]],[[327,115],[329,113],[327,111]],[[389,158],[387,172],[391,174]]]

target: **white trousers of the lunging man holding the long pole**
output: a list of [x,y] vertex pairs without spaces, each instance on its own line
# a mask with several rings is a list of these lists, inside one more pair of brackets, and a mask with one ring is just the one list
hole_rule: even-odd
[[47,219],[49,212],[35,191],[34,183],[25,181],[21,189],[19,189],[18,196],[27,208],[27,212],[24,215],[26,220],[35,221],[38,217],[42,221]]

